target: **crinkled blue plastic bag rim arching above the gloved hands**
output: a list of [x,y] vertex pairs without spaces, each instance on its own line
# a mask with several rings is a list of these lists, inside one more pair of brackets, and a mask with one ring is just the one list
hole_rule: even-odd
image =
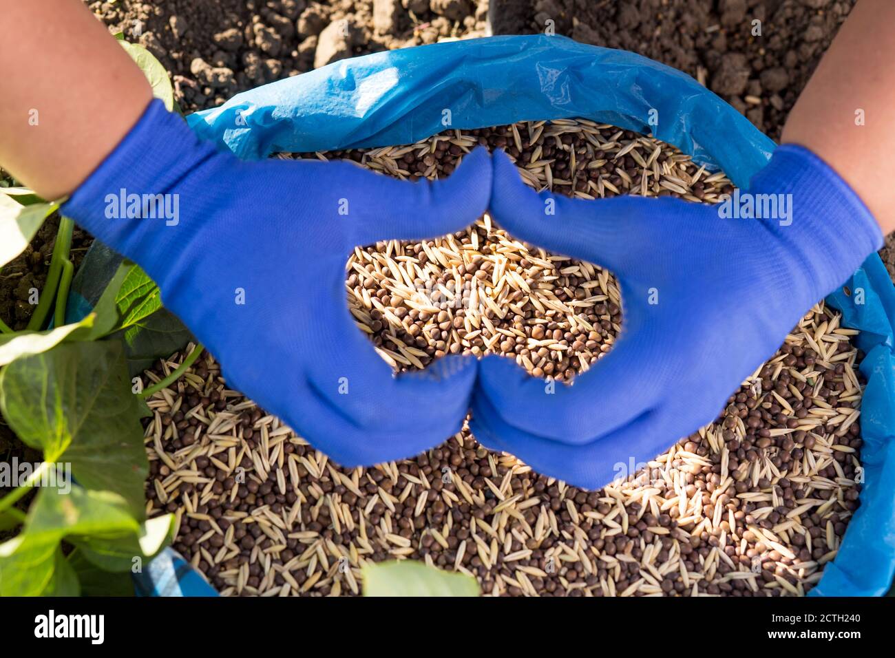
[[685,73],[542,35],[355,57],[237,94],[187,121],[240,158],[264,158],[411,143],[445,130],[446,112],[447,127],[460,129],[578,116],[653,132],[739,185],[773,150],[773,141]]

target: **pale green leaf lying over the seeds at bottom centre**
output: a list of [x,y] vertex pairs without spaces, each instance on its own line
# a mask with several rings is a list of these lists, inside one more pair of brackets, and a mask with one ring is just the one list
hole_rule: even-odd
[[475,578],[414,560],[368,562],[361,568],[364,596],[478,596]]

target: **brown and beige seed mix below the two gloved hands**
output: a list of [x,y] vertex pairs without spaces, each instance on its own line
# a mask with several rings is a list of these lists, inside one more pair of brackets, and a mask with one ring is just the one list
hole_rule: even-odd
[[225,595],[357,594],[365,560],[396,558],[487,594],[805,594],[858,505],[861,386],[838,322],[816,306],[718,422],[601,491],[466,431],[342,468],[203,355],[149,400],[147,509],[175,512],[175,549]]

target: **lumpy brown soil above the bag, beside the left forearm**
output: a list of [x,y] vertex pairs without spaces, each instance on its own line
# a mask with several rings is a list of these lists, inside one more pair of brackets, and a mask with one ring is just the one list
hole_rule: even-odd
[[184,112],[312,68],[441,38],[484,36],[487,0],[88,2],[172,75]]

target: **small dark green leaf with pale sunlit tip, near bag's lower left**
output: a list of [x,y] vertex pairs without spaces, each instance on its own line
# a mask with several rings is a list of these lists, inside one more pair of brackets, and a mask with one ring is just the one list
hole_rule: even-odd
[[140,534],[117,537],[86,536],[72,543],[98,568],[106,571],[130,571],[134,557],[152,557],[174,539],[175,516],[150,518],[141,525]]

